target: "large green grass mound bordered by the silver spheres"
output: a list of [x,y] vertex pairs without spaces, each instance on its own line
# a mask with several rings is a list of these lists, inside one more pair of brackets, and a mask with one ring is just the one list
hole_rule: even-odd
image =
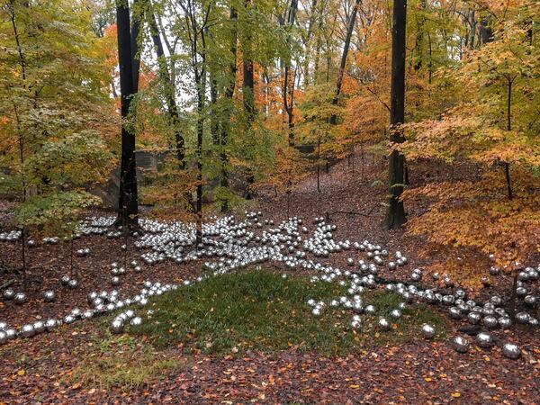
[[236,349],[279,350],[297,347],[324,355],[343,355],[365,344],[392,344],[419,338],[419,326],[433,323],[442,330],[445,320],[422,305],[409,307],[391,332],[377,332],[374,323],[397,308],[395,293],[366,292],[365,305],[377,315],[362,316],[363,328],[350,328],[352,311],[325,307],[320,317],[311,314],[309,299],[329,303],[346,294],[337,283],[312,284],[308,277],[283,278],[266,270],[211,277],[152,300],[151,315],[143,326],[130,330],[142,334],[157,347],[184,347],[218,355]]

